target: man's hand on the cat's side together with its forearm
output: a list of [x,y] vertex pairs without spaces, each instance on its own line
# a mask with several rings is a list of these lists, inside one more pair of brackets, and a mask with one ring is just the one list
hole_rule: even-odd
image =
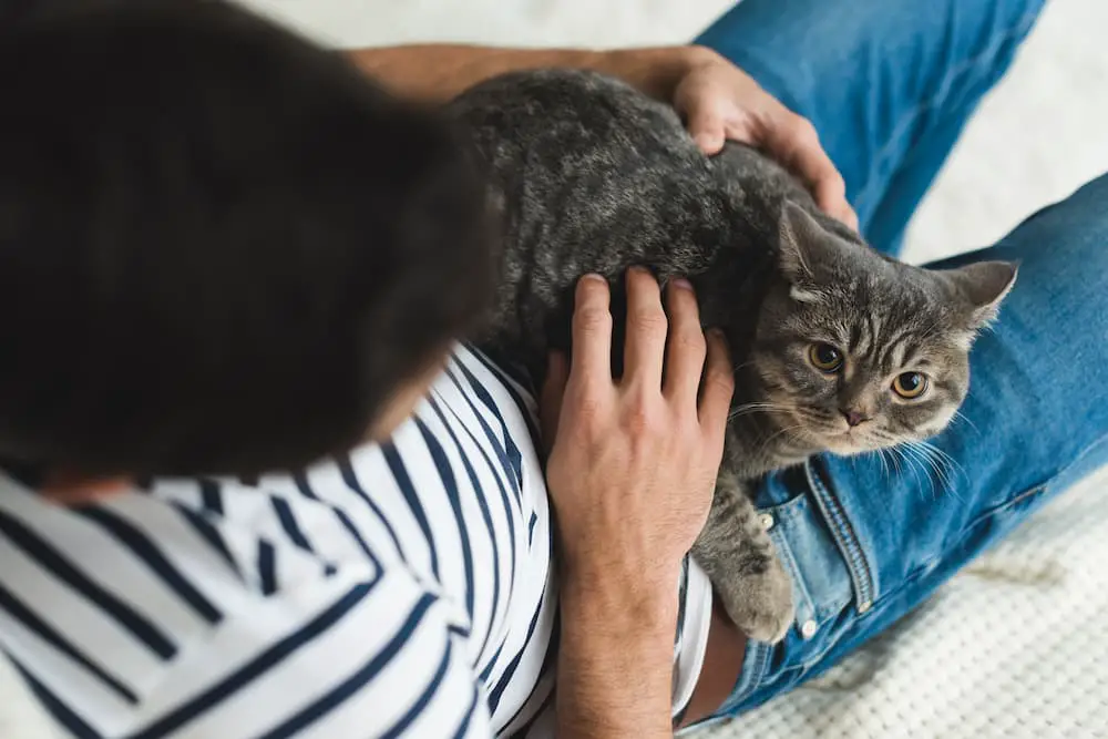
[[543,391],[562,567],[558,736],[669,736],[680,564],[711,504],[733,380],[688,283],[670,283],[667,325],[643,269],[627,274],[614,380],[608,299],[603,278],[578,283],[573,366],[553,359]]

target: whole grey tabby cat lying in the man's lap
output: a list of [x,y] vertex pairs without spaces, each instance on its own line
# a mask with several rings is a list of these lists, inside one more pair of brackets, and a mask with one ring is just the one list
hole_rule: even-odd
[[724,330],[733,410],[693,555],[737,626],[781,639],[792,586],[751,483],[820,452],[942,431],[966,394],[973,337],[1015,267],[929,270],[885,257],[766,156],[728,144],[709,160],[669,106],[595,73],[509,74],[451,112],[472,129],[499,215],[494,348],[540,367],[550,347],[567,348],[577,278],[607,276],[615,310],[632,265],[688,276],[704,325]]

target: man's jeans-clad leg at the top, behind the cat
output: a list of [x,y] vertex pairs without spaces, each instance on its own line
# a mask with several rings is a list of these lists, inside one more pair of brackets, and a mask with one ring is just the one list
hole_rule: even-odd
[[1044,0],[743,0],[696,41],[815,125],[862,233],[895,252]]

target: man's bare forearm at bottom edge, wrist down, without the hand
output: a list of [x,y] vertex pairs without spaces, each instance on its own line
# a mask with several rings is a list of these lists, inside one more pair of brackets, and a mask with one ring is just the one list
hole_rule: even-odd
[[563,578],[558,737],[673,736],[676,583],[661,578],[628,597],[624,583]]

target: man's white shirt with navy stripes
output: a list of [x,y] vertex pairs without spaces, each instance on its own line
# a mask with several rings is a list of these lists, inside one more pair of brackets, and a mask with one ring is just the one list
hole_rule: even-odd
[[[531,394],[459,347],[384,444],[62,507],[0,479],[0,648],[75,737],[551,736]],[[710,588],[679,584],[675,711]]]

